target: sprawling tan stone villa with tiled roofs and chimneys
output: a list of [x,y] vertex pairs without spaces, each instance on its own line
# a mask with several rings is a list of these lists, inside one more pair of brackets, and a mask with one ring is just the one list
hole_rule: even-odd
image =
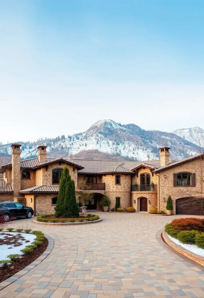
[[[46,146],[38,147],[38,158],[20,160],[21,144],[12,146],[12,162],[1,165],[0,201],[19,201],[34,209],[35,215],[53,213],[59,191],[63,167],[68,167],[75,187],[83,181],[90,185],[94,198],[87,202],[88,209],[100,209],[100,199],[107,195],[110,209],[116,200],[122,208],[133,206],[137,212],[150,208],[166,210],[169,195],[173,214],[203,215],[202,209],[192,210],[186,198],[186,188],[197,193],[200,155],[180,161],[169,159],[168,147],[159,148],[160,159],[144,162],[110,160],[78,160],[72,156],[47,158]],[[90,190],[87,190],[90,191]],[[185,208],[177,202],[183,200]]]

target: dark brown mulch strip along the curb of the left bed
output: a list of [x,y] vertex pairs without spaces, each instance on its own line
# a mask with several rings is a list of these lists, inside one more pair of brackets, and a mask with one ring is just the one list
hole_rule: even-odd
[[18,271],[22,270],[30,263],[35,261],[41,254],[43,254],[47,246],[48,240],[47,238],[44,238],[41,246],[34,249],[31,253],[24,254],[23,257],[18,258],[16,261],[12,262],[12,264],[7,266],[6,268],[0,268],[0,282],[6,280],[13,274],[17,273]]

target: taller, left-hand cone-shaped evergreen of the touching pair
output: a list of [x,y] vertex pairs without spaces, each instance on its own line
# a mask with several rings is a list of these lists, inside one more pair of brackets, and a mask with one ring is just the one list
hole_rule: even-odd
[[54,207],[56,217],[62,217],[64,213],[64,200],[67,193],[68,182],[71,180],[71,176],[69,175],[69,169],[67,167],[63,168],[60,185],[59,185],[59,193],[57,197],[57,204]]

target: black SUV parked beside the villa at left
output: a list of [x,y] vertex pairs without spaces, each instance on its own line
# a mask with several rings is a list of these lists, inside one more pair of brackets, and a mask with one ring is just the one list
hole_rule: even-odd
[[26,207],[18,202],[0,202],[0,217],[3,221],[9,221],[10,217],[31,218],[34,211],[31,207]]

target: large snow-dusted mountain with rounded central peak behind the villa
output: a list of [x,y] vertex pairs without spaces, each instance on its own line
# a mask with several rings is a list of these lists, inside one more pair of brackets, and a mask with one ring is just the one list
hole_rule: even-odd
[[[135,124],[122,125],[110,119],[100,120],[87,131],[73,136],[58,136],[55,139],[22,144],[22,158],[36,156],[37,147],[41,144],[48,146],[48,156],[55,157],[73,155],[84,150],[98,150],[140,161],[158,158],[158,148],[161,146],[171,147],[172,159],[182,159],[197,153],[194,144],[176,134],[145,131]],[[0,145],[0,153],[10,154],[10,144]]]

